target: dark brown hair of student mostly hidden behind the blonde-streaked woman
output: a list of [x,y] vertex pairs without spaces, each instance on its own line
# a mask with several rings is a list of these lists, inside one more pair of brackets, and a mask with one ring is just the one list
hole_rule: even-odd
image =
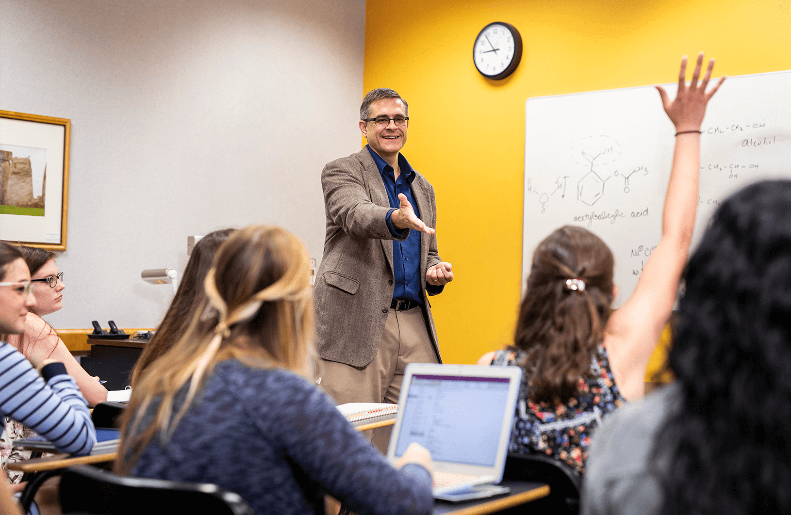
[[184,277],[182,277],[179,289],[165,313],[165,318],[162,318],[157,332],[143,349],[138,362],[134,364],[130,381],[133,388],[142,371],[146,370],[158,357],[165,354],[176,343],[176,340],[187,332],[187,327],[195,317],[198,306],[206,299],[203,281],[206,280],[206,274],[209,273],[212,261],[214,261],[214,254],[233,231],[236,229],[210,232],[195,244],[190,260],[187,261],[187,268],[184,269]]

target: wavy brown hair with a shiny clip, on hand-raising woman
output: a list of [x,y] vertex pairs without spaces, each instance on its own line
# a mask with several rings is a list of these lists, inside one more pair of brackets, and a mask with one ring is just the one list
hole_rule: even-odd
[[[517,320],[514,346],[530,381],[529,399],[565,403],[589,374],[612,303],[615,260],[599,237],[567,225],[539,243],[533,254]],[[581,279],[584,289],[567,285]]]

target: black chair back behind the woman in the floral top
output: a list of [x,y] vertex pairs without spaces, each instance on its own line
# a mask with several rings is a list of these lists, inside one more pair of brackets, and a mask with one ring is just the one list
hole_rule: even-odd
[[503,477],[549,484],[549,496],[539,499],[539,503],[532,502],[531,509],[540,504],[547,513],[580,513],[582,476],[564,461],[541,454],[509,453]]

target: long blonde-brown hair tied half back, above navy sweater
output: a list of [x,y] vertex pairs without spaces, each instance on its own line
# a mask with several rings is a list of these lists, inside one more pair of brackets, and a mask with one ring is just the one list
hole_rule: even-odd
[[[289,231],[252,226],[222,244],[206,275],[206,299],[187,333],[138,378],[123,415],[119,459],[127,474],[151,439],[167,442],[217,363],[282,367],[307,375],[313,311],[305,246]],[[174,398],[189,383],[173,416]],[[152,404],[153,420],[142,427]],[[153,409],[153,408],[152,408]]]

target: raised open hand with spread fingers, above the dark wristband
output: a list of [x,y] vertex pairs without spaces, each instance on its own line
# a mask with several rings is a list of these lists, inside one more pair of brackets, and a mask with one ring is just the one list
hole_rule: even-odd
[[657,86],[659,96],[662,98],[662,106],[664,112],[668,114],[668,118],[676,126],[677,132],[700,130],[700,124],[703,122],[703,115],[706,114],[706,103],[713,96],[717,89],[720,88],[725,77],[722,77],[717,84],[711,88],[710,92],[706,92],[706,87],[709,85],[711,78],[711,70],[714,68],[714,59],[709,59],[709,67],[706,70],[706,76],[703,81],[698,83],[700,77],[700,70],[703,64],[703,52],[698,54],[698,62],[695,64],[694,72],[692,73],[692,81],[687,86],[685,77],[687,76],[687,56],[681,58],[681,68],[679,70],[679,90],[676,93],[676,98],[670,100],[668,93],[664,91],[662,86]]

